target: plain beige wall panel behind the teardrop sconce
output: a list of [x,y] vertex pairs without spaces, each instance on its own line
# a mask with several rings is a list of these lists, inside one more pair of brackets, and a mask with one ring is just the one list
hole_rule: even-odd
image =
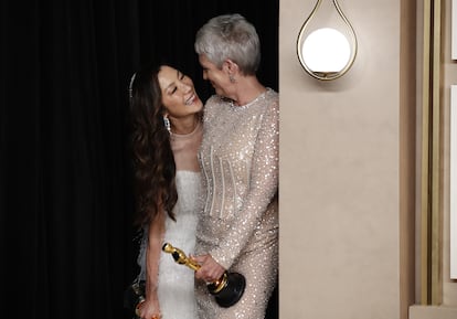
[[[280,0],[280,318],[403,319],[414,302],[404,258],[414,251],[414,223],[406,223],[414,199],[405,191],[414,188],[405,178],[414,148],[404,149],[415,118],[407,121],[414,113],[405,111],[414,99],[401,56],[411,54],[401,45],[401,4],[415,1],[339,2],[359,53],[348,74],[319,82],[296,55],[315,1]],[[447,305],[456,302],[456,285],[445,283]]]

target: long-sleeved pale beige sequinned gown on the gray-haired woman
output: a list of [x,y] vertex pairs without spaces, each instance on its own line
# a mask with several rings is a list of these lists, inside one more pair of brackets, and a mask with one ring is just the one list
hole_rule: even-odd
[[219,96],[205,105],[195,253],[243,274],[246,288],[237,304],[222,308],[198,281],[201,319],[265,317],[278,272],[278,94],[270,88],[245,106]]

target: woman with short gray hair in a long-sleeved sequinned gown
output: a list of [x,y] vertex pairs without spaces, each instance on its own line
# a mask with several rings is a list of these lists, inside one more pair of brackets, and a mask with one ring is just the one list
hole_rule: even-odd
[[[194,43],[203,78],[215,89],[204,107],[199,161],[204,209],[199,215],[195,294],[201,319],[264,319],[278,272],[278,94],[256,76],[261,44],[240,14],[211,19]],[[233,306],[206,289],[225,272],[244,275]]]

